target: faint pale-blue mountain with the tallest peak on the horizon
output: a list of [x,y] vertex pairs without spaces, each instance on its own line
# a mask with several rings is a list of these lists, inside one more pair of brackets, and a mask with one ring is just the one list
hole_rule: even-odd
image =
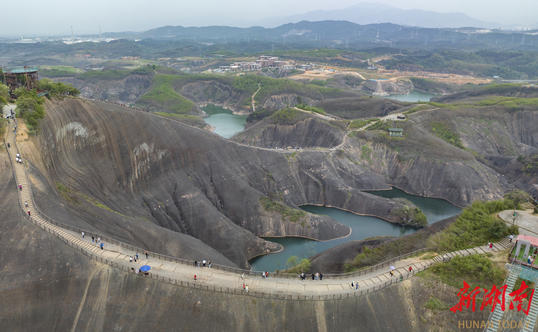
[[258,20],[235,21],[235,26],[277,27],[286,23],[297,23],[302,20],[345,20],[357,24],[394,23],[420,27],[482,27],[499,28],[501,24],[485,22],[469,17],[464,13],[438,13],[420,9],[403,10],[380,3],[359,3],[348,8],[337,10],[315,10],[299,15],[278,16]]

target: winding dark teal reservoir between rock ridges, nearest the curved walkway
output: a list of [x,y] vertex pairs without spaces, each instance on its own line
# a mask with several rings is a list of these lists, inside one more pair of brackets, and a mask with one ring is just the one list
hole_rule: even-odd
[[[450,216],[456,215],[462,211],[461,208],[452,205],[447,200],[416,196],[408,194],[405,191],[397,188],[393,188],[392,190],[366,192],[386,198],[402,197],[412,201],[413,204],[419,207],[422,212],[426,214],[428,217],[428,224],[449,218]],[[309,252],[321,252],[345,242],[363,240],[367,237],[373,236],[400,235],[401,225],[398,223],[388,222],[375,216],[358,215],[349,211],[339,210],[335,207],[326,206],[302,205],[301,208],[310,213],[325,214],[330,216],[332,219],[335,219],[336,221],[350,227],[351,234],[343,239],[323,242],[312,241],[296,236],[264,237],[265,240],[282,244],[284,250],[274,254],[252,258],[249,263],[252,265],[253,270],[270,272],[275,270],[283,270],[286,269],[286,261],[288,260],[289,256],[297,256],[300,259],[308,258]],[[414,233],[416,230],[417,229],[413,227],[404,227],[403,235]]]

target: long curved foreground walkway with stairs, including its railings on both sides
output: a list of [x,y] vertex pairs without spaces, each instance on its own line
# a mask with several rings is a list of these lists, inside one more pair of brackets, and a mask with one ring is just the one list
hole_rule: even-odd
[[[135,248],[121,243],[105,236],[100,236],[103,244],[92,243],[91,236],[99,235],[85,232],[86,236],[82,238],[81,230],[60,224],[47,216],[40,213],[34,205],[33,194],[30,187],[30,180],[27,176],[24,163],[16,162],[16,155],[19,153],[16,142],[15,132],[13,131],[13,120],[10,121],[8,133],[6,134],[7,143],[10,143],[8,152],[15,171],[17,187],[19,189],[19,203],[21,204],[26,218],[44,229],[46,232],[58,237],[61,241],[76,250],[87,255],[98,262],[114,266],[134,273],[141,265],[150,265],[151,273],[140,274],[140,277],[148,277],[167,282],[171,284],[200,288],[208,291],[227,292],[235,294],[244,294],[255,297],[278,298],[287,300],[327,300],[357,297],[363,294],[380,290],[393,283],[414,276],[415,272],[429,268],[429,266],[442,261],[441,256],[435,256],[429,259],[421,259],[410,254],[400,256],[391,261],[379,264],[373,268],[347,273],[345,275],[325,275],[323,280],[312,280],[312,277],[306,280],[300,280],[296,275],[285,275],[282,273],[270,273],[269,278],[261,278],[261,272],[245,271],[235,268],[226,268],[225,266],[214,265],[213,268],[197,268],[194,262],[183,259],[162,256],[151,252],[148,258],[144,255],[144,249]],[[63,226],[58,227],[57,225]],[[493,251],[499,251],[512,247],[507,239],[502,239],[495,243]],[[485,246],[476,247],[466,250],[458,250],[448,253],[448,256],[468,256],[472,254],[484,254],[487,252]],[[130,263],[130,256],[139,254],[138,262]],[[423,250],[419,251],[420,255],[424,254]],[[413,254],[413,253],[412,253]],[[203,257],[200,257],[203,259]],[[406,259],[407,258],[407,259]],[[390,266],[394,266],[394,276],[390,275]],[[409,266],[412,270],[409,272]],[[215,268],[216,267],[216,268]],[[244,279],[240,273],[244,273]],[[194,275],[197,274],[197,281]],[[357,290],[351,288],[351,282],[358,283]],[[243,284],[249,286],[250,292],[243,290]]]

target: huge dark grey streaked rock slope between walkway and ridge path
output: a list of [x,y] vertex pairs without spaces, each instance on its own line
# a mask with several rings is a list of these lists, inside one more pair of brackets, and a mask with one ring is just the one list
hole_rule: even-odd
[[[397,221],[388,215],[397,204],[357,190],[387,189],[386,178],[346,160],[323,151],[288,158],[121,106],[48,102],[37,146],[27,144],[40,151],[27,160],[45,213],[175,256],[183,257],[182,249],[163,246],[154,225],[195,237],[243,268],[249,258],[281,248],[257,236],[330,240],[350,233],[327,216],[306,214],[294,222],[291,215],[267,211],[260,204],[267,196],[291,208],[346,206]],[[49,197],[54,182],[67,186],[80,204]],[[68,220],[58,212],[61,204],[72,213]]]

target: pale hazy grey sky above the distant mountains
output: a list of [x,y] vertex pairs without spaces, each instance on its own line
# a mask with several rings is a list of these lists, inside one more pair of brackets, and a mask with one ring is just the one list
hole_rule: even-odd
[[[323,9],[342,9],[360,2],[379,2],[400,9],[463,12],[472,18],[500,24],[538,23],[537,0],[272,0],[260,5],[252,0],[27,0],[4,1],[0,35],[37,36],[102,32],[145,31],[165,25],[233,25],[237,20],[287,16]],[[259,2],[266,3],[266,2]],[[9,14],[26,11],[25,17]]]

